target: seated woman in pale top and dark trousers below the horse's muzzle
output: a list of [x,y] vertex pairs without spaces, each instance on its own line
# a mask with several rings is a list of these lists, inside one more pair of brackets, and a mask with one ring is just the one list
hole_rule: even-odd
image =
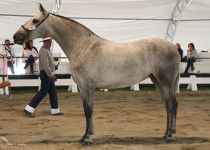
[[24,69],[30,66],[31,73],[34,73],[34,63],[38,57],[38,54],[36,50],[31,46],[30,42],[26,42],[24,44],[24,49],[21,52],[21,57],[23,57],[23,62],[26,63]]

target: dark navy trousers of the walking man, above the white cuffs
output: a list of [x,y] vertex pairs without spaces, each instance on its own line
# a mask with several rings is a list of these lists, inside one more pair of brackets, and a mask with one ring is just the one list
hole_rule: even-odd
[[40,79],[41,89],[28,105],[33,108],[36,108],[37,105],[48,93],[50,97],[51,109],[58,109],[58,98],[54,81],[50,77],[48,77],[45,71],[43,70],[40,70]]

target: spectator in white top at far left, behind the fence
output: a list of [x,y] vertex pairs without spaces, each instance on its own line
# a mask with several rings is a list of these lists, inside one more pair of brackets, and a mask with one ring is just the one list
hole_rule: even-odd
[[7,66],[10,68],[11,72],[14,74],[15,73],[15,70],[14,70],[15,53],[14,53],[14,49],[11,47],[13,43],[10,43],[10,40],[6,39],[3,45],[4,45],[3,55],[4,57],[7,58]]

